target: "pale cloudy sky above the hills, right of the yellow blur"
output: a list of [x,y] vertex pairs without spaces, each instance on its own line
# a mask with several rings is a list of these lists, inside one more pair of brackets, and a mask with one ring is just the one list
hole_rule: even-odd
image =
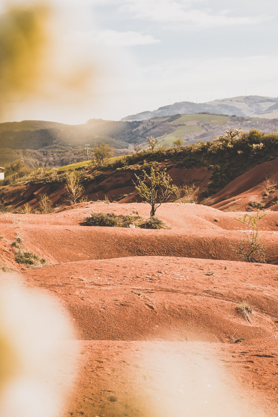
[[52,99],[17,119],[119,120],[177,101],[278,96],[274,0],[60,0],[65,60],[93,65],[82,106]]

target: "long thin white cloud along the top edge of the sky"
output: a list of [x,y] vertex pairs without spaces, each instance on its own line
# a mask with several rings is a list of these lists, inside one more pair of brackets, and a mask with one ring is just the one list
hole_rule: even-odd
[[[117,0],[116,0],[117,2]],[[198,9],[193,3],[200,1],[188,0],[118,0],[118,13],[130,15],[134,19],[154,22],[184,22],[195,27],[215,27],[231,25],[250,25],[269,19],[266,15],[232,16],[228,11],[219,10],[213,13],[206,8],[204,2]]]

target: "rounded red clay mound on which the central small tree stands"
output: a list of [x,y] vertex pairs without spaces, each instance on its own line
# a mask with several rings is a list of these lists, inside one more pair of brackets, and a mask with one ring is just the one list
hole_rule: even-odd
[[[0,216],[1,244],[23,239],[23,247],[53,264],[125,256],[186,256],[205,259],[238,260],[231,245],[240,241],[243,224],[234,213],[208,206],[163,204],[158,214],[172,229],[147,230],[82,226],[92,212],[149,214],[147,204],[94,203],[49,215],[3,214]],[[237,216],[243,216],[238,213]],[[218,220],[218,221],[215,221]],[[261,242],[267,247],[268,263],[278,263],[278,213],[269,212],[260,221]],[[13,251],[10,251],[13,256]]]

